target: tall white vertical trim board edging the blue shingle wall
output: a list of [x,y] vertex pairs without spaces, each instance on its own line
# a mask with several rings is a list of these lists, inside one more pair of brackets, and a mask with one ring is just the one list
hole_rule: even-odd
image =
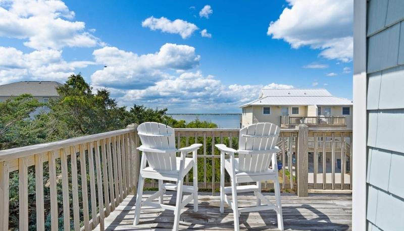
[[[351,174],[354,185],[352,188],[352,230],[366,230],[366,136],[367,136],[367,113],[366,113],[366,90],[367,90],[367,1],[354,0],[354,114],[352,153],[355,153],[353,168],[355,174]],[[378,54],[379,55],[379,54]],[[352,162],[352,159],[351,159]],[[351,168],[352,169],[352,168]]]

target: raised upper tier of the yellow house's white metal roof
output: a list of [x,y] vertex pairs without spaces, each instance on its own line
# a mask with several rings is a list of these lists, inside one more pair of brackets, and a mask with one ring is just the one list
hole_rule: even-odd
[[260,91],[258,98],[266,96],[332,96],[326,89],[267,89]]

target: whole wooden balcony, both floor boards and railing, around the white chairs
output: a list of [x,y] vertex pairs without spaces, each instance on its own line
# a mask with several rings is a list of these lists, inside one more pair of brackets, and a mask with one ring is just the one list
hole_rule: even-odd
[[[141,155],[136,149],[139,138],[135,128],[136,125],[130,125],[122,130],[0,151],[0,230],[28,230],[32,224],[37,230],[45,230],[47,216],[51,217],[53,230],[171,228],[172,212],[154,208],[142,210],[140,224],[132,226],[133,194]],[[214,144],[237,148],[238,132],[238,129],[175,129],[177,147],[203,144],[197,153],[199,211],[195,213],[185,207],[180,228],[233,228],[231,209],[225,207],[223,214],[219,212],[220,153]],[[285,229],[351,228],[351,136],[351,130],[341,128],[281,129],[277,142],[281,151],[277,158],[282,162],[279,177]],[[318,137],[323,137],[326,144],[318,141]],[[313,143],[309,138],[313,138]],[[14,175],[18,175],[18,181],[11,182]],[[35,176],[34,179],[29,175]],[[192,185],[189,176],[184,182]],[[226,184],[229,185],[229,179]],[[271,197],[273,183],[261,184]],[[149,190],[157,186],[158,182],[145,182]],[[9,206],[11,187],[19,189],[18,208]],[[35,190],[33,198],[28,197],[29,187]],[[45,188],[49,190],[44,191]],[[145,192],[143,196],[150,195]],[[58,197],[63,198],[63,203],[58,202]],[[254,198],[252,194],[241,194],[238,200],[240,206],[247,206]],[[175,195],[168,194],[164,200],[174,204]],[[18,211],[18,225],[9,226],[11,209]],[[36,214],[36,220],[30,220],[32,213]],[[275,221],[273,211],[240,215],[241,229],[276,229]]]

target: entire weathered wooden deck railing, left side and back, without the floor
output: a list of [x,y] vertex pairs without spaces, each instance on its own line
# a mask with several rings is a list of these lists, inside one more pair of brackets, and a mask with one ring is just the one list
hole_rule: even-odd
[[[47,215],[51,217],[52,230],[62,226],[58,223],[59,217],[63,217],[65,230],[91,230],[98,223],[103,229],[104,218],[136,187],[141,153],[136,150],[139,139],[135,128],[136,125],[130,125],[123,130],[0,151],[0,230],[9,229],[10,176],[15,174],[19,179],[19,230],[28,230],[29,210],[36,213],[37,230],[45,230]],[[238,135],[238,129],[175,129],[177,147],[195,142],[203,144],[197,153],[199,189],[212,193],[218,190],[220,152],[215,144],[225,143],[237,149]],[[313,137],[313,143],[308,141],[309,137]],[[319,137],[326,142],[325,146]],[[308,129],[305,125],[298,129],[281,129],[277,142],[281,152],[277,157],[282,162],[282,188],[294,189],[299,196],[307,195],[309,188],[350,189],[351,180],[348,185],[335,182],[335,156],[337,152],[342,153],[341,172],[347,172],[349,166],[351,178],[351,142],[352,131],[347,129]],[[313,152],[316,182],[311,185],[308,183],[309,151]],[[323,155],[325,152],[329,152],[330,160]],[[326,181],[327,162],[331,163],[331,183]],[[321,184],[317,184],[317,173],[321,173],[319,164],[323,168]],[[35,203],[28,201],[28,187],[32,185],[29,172],[34,172],[35,176]],[[190,178],[185,177],[185,184],[192,184]],[[344,174],[340,178],[345,182]],[[49,180],[44,182],[44,179]],[[146,182],[146,187],[157,186],[157,182]],[[50,199],[44,195],[44,187],[50,189]],[[263,182],[262,187],[268,190],[273,184]],[[58,203],[58,195],[62,196],[63,203]],[[45,200],[49,203],[44,203]],[[58,204],[63,209],[58,208]]]

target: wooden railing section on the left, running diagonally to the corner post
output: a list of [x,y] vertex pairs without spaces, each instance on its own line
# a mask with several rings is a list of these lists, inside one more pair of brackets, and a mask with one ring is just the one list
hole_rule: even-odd
[[[138,158],[135,158],[136,141],[136,130],[132,126],[113,132],[0,151],[0,230],[9,230],[10,176],[17,171],[19,230],[28,230],[29,225],[28,184],[32,182],[28,182],[28,171],[35,172],[34,211],[37,230],[45,230],[45,214],[51,216],[51,229],[58,230],[60,211],[63,211],[64,230],[91,230],[98,223],[104,228],[104,217],[134,190],[137,181],[134,172],[138,171],[136,166],[139,165]],[[43,181],[44,174],[49,175],[48,182]],[[60,178],[62,192],[57,191]],[[45,208],[44,187],[50,189],[50,209]],[[60,193],[63,210],[58,208]],[[73,227],[70,227],[72,217]]]

